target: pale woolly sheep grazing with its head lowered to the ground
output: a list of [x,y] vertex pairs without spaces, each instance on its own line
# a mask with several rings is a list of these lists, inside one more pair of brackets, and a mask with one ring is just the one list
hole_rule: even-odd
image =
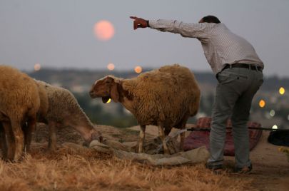
[[91,140],[102,140],[101,133],[93,128],[93,124],[70,91],[43,81],[36,83],[45,88],[49,100],[46,115],[39,115],[38,118],[39,122],[49,125],[49,150],[56,148],[56,127],[60,125],[74,128],[86,141],[85,145],[91,143]]

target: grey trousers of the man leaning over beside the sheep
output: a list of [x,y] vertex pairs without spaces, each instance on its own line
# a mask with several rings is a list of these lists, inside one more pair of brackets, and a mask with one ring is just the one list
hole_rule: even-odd
[[235,166],[250,165],[247,123],[253,96],[263,83],[262,71],[248,68],[228,68],[218,74],[218,86],[213,104],[210,133],[210,165],[223,164],[226,123],[233,125]]

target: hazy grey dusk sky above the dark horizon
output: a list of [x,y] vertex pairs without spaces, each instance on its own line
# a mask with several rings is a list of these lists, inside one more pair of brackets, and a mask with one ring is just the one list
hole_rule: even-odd
[[[265,76],[289,77],[288,0],[0,0],[0,63],[21,70],[42,68],[133,70],[180,63],[211,71],[196,38],[154,29],[133,30],[129,16],[198,22],[208,14],[253,44]],[[94,26],[114,29],[101,39]],[[109,36],[111,32],[111,36]],[[108,36],[106,36],[108,35]]]

